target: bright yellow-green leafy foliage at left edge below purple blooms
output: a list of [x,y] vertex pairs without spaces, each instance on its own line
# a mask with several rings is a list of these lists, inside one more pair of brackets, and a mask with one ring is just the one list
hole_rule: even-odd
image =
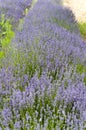
[[5,20],[4,15],[0,21],[0,58],[5,56],[6,49],[8,48],[11,39],[14,37],[12,25],[9,20]]

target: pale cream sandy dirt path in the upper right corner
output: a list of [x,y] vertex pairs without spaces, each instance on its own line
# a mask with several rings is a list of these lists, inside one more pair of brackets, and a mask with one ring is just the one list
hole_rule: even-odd
[[73,11],[79,22],[86,22],[86,0],[63,0],[63,3]]

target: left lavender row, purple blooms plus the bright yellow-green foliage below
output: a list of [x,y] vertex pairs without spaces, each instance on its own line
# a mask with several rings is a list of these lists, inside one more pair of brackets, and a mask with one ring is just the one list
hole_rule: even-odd
[[[6,54],[7,48],[14,37],[14,32],[31,7],[32,0],[11,1],[0,0],[0,60]],[[0,61],[1,62],[1,61]]]

